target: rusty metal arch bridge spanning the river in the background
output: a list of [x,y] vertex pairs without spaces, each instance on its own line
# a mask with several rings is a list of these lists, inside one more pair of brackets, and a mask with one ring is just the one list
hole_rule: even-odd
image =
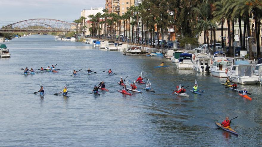
[[0,33],[12,32],[32,32],[32,33],[49,33],[49,32],[69,32],[75,31],[76,25],[56,19],[29,19],[7,25],[0,29]]

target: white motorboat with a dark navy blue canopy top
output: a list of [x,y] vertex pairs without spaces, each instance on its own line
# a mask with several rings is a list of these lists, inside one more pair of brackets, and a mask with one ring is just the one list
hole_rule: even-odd
[[179,55],[179,61],[177,62],[177,69],[192,69],[192,54],[190,53],[181,53]]

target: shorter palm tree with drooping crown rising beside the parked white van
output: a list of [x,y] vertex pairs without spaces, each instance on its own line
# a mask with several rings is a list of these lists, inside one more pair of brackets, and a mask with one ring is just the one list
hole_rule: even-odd
[[199,23],[197,24],[197,28],[202,29],[204,31],[204,34],[206,35],[209,53],[210,53],[210,45],[209,45],[209,38],[208,38],[209,36],[208,29],[210,26],[214,26],[215,28],[217,28],[217,25],[213,23],[212,20],[201,19],[199,20]]

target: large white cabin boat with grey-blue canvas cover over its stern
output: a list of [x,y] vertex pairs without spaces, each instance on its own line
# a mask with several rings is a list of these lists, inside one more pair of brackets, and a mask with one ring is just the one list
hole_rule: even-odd
[[256,65],[250,64],[246,60],[233,59],[231,67],[227,71],[227,77],[233,83],[239,84],[258,84],[260,82],[260,76],[255,75],[253,68]]

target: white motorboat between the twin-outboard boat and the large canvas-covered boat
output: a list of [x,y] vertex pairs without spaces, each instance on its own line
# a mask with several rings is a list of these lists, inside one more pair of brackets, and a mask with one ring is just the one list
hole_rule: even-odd
[[211,68],[209,69],[211,75],[219,78],[227,77],[227,70],[231,67],[231,62],[226,59],[226,54],[215,53],[211,64]]

